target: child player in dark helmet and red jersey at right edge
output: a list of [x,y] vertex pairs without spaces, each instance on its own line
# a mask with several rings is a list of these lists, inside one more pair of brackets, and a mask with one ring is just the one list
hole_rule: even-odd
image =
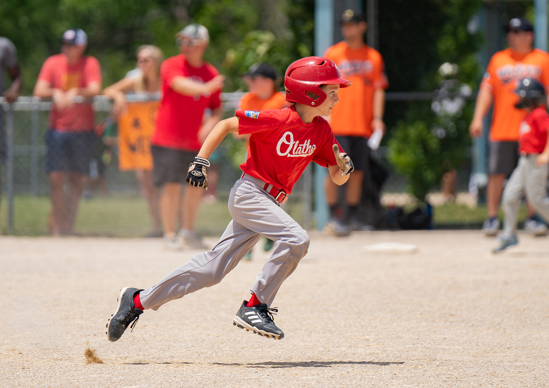
[[547,174],[549,171],[549,114],[545,110],[545,87],[530,77],[518,83],[516,108],[528,112],[520,123],[518,166],[503,191],[505,226],[494,252],[501,252],[516,245],[517,218],[520,198],[526,193],[531,206],[546,222],[549,222],[549,197],[547,196]]

